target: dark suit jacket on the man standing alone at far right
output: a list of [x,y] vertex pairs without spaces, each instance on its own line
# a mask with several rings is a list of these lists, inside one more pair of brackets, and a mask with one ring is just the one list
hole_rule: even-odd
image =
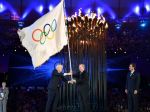
[[129,92],[133,92],[134,90],[139,90],[139,86],[140,86],[140,74],[135,71],[131,75],[131,72],[129,72],[127,74],[126,89]]

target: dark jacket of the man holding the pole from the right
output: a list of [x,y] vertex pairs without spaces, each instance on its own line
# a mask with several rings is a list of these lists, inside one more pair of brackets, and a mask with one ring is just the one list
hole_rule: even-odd
[[78,72],[73,77],[76,79],[76,86],[79,89],[89,89],[89,76],[86,71]]

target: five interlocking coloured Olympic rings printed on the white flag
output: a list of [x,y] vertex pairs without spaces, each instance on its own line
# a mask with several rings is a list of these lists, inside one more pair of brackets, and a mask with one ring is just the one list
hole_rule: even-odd
[[[43,29],[35,29],[32,32],[32,39],[35,42],[40,42],[41,44],[44,44],[46,42],[46,39],[53,39],[54,38],[54,32],[57,29],[57,22],[56,19],[52,21],[51,24],[45,24]],[[52,35],[50,35],[52,33]]]

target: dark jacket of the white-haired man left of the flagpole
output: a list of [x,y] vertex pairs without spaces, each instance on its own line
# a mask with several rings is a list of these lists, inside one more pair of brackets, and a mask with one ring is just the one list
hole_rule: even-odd
[[53,70],[52,77],[48,84],[48,89],[56,90],[61,86],[62,82],[66,82],[67,79],[63,76],[63,73],[58,73],[57,70]]

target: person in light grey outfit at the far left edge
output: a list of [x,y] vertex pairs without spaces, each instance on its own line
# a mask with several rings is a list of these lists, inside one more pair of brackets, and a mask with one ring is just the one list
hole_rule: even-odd
[[6,87],[6,82],[2,82],[0,88],[0,112],[7,111],[7,100],[8,100],[9,89]]

